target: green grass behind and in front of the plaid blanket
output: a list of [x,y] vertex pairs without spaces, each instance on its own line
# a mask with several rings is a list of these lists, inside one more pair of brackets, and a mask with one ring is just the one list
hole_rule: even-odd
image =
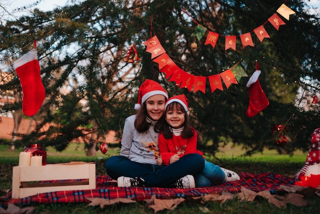
[[[96,157],[86,157],[82,144],[72,143],[61,152],[55,152],[53,148],[47,148],[47,162],[61,163],[70,161],[96,162],[96,174],[105,175],[104,164],[111,155],[118,155],[119,148],[109,148],[106,155],[97,151]],[[18,164],[18,156],[22,149],[9,151],[8,146],[0,145],[0,188],[2,196],[12,185],[12,167]],[[252,157],[241,156],[244,151],[241,147],[227,145],[215,157],[207,156],[214,163],[235,170],[236,172],[271,172],[285,176],[293,176],[303,166],[306,155],[296,152],[292,157],[279,155],[276,151],[264,151],[262,154],[255,154]],[[320,206],[320,197],[305,197],[309,202],[308,206],[295,207],[288,205],[286,209],[279,209],[269,204],[265,199],[257,198],[254,202],[241,202],[238,199],[227,201],[224,204],[209,202],[202,204],[197,200],[188,200],[179,204],[173,210],[163,210],[158,213],[203,213],[200,209],[207,207],[209,213],[317,213]],[[151,213],[153,209],[148,208],[146,202],[133,204],[114,204],[100,208],[99,206],[87,206],[88,203],[68,204],[32,204],[36,207],[35,213]]]

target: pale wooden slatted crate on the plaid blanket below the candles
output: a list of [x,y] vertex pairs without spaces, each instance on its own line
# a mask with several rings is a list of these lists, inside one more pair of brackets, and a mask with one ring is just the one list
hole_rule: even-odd
[[[12,172],[12,198],[25,198],[43,192],[96,188],[95,163],[47,164],[44,166],[14,166]],[[61,183],[40,181],[74,180]]]

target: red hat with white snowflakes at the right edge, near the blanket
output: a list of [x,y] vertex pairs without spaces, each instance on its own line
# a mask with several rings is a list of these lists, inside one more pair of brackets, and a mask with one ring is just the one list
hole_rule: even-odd
[[308,167],[311,165],[320,163],[320,128],[313,131],[311,135],[311,146],[309,153],[307,155],[306,163],[300,170],[298,174],[298,179],[300,180],[308,170]]

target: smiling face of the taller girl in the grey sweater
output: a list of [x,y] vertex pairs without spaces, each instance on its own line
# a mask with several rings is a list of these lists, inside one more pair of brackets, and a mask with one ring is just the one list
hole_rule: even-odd
[[153,95],[146,100],[147,114],[152,120],[159,120],[165,111],[166,97]]

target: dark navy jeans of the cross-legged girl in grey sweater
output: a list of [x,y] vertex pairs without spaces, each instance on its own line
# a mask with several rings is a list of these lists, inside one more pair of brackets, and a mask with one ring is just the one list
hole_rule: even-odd
[[149,187],[168,187],[186,175],[202,172],[204,159],[199,154],[188,154],[169,165],[154,165],[131,161],[125,156],[112,156],[105,164],[107,174],[112,179],[121,176],[142,178]]

